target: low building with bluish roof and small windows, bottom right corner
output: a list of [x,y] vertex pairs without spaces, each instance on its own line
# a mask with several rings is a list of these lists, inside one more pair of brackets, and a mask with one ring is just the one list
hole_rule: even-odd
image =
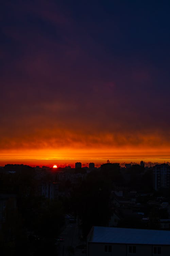
[[87,237],[87,256],[170,255],[170,231],[92,227]]

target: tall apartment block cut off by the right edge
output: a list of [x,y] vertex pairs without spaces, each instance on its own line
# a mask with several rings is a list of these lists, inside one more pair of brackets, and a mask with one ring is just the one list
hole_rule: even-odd
[[153,168],[153,186],[155,190],[170,187],[170,166],[166,163]]

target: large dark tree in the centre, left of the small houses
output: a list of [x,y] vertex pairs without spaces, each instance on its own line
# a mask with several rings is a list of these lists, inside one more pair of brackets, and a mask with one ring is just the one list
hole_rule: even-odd
[[111,216],[111,180],[104,179],[97,171],[74,187],[72,201],[75,211],[82,220],[82,231],[87,236],[91,227],[107,226]]

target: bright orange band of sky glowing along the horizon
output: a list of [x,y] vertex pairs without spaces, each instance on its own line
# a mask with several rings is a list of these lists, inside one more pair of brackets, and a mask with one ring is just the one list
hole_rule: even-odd
[[82,162],[85,165],[94,162],[101,165],[109,159],[111,162],[170,162],[169,147],[94,147],[94,148],[46,148],[41,150],[16,149],[0,151],[0,166],[7,163],[23,163],[31,166],[73,165]]

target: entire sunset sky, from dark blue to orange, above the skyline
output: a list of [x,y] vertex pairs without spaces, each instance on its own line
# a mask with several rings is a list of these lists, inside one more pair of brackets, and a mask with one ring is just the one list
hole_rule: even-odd
[[170,2],[5,0],[0,165],[170,160]]

